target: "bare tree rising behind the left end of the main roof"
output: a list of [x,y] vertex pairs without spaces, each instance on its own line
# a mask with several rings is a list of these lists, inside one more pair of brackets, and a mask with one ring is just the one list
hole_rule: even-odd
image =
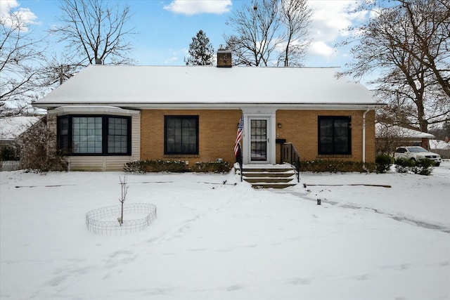
[[134,28],[127,28],[131,18],[129,6],[111,8],[103,0],[61,0],[63,25],[51,30],[60,41],[68,42],[70,52],[79,55],[79,63],[97,61],[113,65],[134,63],[128,57],[132,47],[127,37]]

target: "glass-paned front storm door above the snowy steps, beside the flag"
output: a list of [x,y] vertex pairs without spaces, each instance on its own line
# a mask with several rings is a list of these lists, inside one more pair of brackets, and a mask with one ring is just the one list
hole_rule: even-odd
[[250,162],[267,162],[267,118],[250,118]]

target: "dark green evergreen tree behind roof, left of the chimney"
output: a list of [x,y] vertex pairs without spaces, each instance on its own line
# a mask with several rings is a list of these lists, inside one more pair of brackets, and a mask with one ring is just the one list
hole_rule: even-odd
[[192,43],[189,44],[189,56],[184,58],[186,65],[212,65],[214,63],[214,48],[205,32],[200,30]]

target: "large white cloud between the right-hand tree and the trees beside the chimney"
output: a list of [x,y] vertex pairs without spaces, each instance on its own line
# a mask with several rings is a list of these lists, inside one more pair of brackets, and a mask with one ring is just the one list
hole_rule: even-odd
[[313,10],[309,53],[315,56],[335,55],[333,46],[349,35],[348,27],[366,18],[366,13],[352,13],[358,1],[308,0]]

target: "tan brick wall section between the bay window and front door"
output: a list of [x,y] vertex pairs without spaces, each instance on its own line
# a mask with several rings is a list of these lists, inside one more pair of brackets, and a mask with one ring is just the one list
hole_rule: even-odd
[[[198,155],[164,155],[165,115],[198,116]],[[185,160],[215,162],[217,158],[233,164],[240,110],[142,110],[141,159]]]

